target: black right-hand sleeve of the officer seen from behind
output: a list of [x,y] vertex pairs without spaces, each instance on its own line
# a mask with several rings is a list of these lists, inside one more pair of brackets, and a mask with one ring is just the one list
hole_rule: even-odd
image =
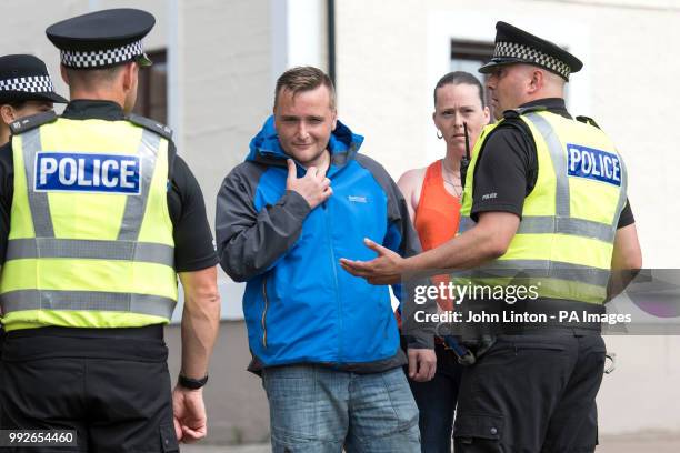
[[201,187],[179,155],[174,157],[170,174],[168,209],[173,225],[174,270],[193,272],[213,266],[218,258]]

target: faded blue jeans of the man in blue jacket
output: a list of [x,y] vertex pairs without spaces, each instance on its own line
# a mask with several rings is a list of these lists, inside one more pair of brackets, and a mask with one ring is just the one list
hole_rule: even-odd
[[418,409],[400,368],[357,374],[322,365],[267,368],[273,453],[420,453]]

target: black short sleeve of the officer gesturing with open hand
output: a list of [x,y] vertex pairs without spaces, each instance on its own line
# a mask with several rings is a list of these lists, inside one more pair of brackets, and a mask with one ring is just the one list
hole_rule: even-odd
[[522,215],[524,198],[536,183],[536,151],[529,138],[514,124],[501,124],[486,139],[474,168],[472,209]]

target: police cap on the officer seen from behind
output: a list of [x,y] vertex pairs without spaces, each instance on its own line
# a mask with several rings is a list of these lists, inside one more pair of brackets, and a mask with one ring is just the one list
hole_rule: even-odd
[[147,11],[119,8],[90,12],[50,26],[48,39],[61,51],[61,64],[100,69],[137,61],[149,66],[142,38],[156,24]]

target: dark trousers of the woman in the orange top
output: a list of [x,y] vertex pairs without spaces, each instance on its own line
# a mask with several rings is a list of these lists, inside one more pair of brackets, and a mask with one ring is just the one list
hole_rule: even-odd
[[452,351],[441,344],[434,345],[437,373],[431,381],[409,380],[411,392],[420,411],[420,435],[422,453],[451,453],[453,412],[463,365],[458,363]]

